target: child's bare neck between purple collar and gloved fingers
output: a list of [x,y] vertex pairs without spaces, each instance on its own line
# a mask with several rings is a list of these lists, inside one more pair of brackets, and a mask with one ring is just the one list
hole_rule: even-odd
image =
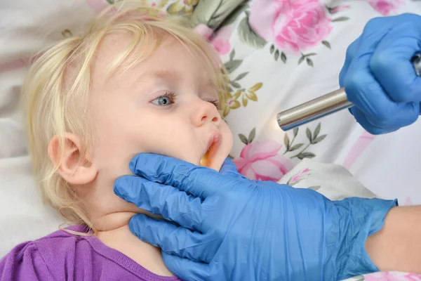
[[98,231],[96,236],[102,243],[125,254],[156,275],[173,276],[162,261],[161,249],[143,242],[131,233],[128,221],[135,215],[131,212],[118,212],[103,217],[113,228]]

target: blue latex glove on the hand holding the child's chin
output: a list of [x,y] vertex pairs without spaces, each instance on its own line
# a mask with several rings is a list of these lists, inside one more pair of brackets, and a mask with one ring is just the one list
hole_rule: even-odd
[[364,242],[396,202],[328,200],[309,189],[250,181],[227,159],[220,173],[142,154],[114,192],[138,214],[131,231],[162,249],[183,280],[340,280],[377,270]]

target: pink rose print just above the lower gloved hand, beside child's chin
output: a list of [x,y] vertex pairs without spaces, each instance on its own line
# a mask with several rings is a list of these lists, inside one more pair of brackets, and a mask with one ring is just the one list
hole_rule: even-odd
[[256,181],[279,181],[293,169],[288,157],[278,155],[282,145],[276,141],[255,141],[244,146],[234,164],[240,174]]

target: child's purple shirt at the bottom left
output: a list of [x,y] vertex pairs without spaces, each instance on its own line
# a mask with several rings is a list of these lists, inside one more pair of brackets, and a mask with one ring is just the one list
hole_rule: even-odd
[[[83,227],[69,228],[83,232]],[[0,280],[145,280],[175,281],[143,268],[95,236],[58,230],[19,244],[0,261]]]

